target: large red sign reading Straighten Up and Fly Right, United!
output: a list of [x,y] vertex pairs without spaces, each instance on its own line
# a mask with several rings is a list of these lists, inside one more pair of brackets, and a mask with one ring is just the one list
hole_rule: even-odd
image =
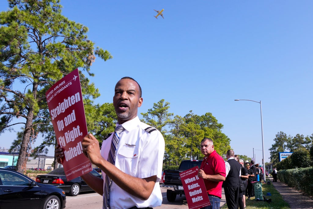
[[72,180],[92,170],[82,152],[81,143],[88,132],[78,69],[49,88],[46,97],[56,140],[64,148],[66,179]]

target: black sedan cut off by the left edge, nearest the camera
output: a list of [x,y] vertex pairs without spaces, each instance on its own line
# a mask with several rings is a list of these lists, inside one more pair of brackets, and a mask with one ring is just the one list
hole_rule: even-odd
[[65,208],[65,192],[53,185],[40,184],[13,170],[0,168],[1,208]]

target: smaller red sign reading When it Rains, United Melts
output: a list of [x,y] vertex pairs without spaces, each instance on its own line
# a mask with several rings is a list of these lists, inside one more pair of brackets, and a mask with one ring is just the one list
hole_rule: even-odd
[[211,205],[204,181],[198,177],[198,166],[180,173],[189,209]]

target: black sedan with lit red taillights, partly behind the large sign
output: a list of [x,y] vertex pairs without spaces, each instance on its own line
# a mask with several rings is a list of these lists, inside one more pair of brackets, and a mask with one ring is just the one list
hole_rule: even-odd
[[[90,173],[102,178],[95,170],[90,171]],[[58,186],[71,196],[77,196],[81,191],[93,191],[81,177],[68,181],[63,168],[57,168],[47,174],[37,175],[36,182]]]

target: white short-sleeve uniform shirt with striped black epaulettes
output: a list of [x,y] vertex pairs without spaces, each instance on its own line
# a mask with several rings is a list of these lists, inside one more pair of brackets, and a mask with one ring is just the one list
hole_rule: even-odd
[[[143,179],[156,175],[157,180],[147,200],[141,200],[129,194],[112,181],[110,186],[110,208],[161,206],[162,193],[159,181],[162,175],[164,138],[158,130],[149,128],[149,125],[142,123],[138,116],[121,125],[125,130],[121,133],[116,148],[115,166],[131,176]],[[102,143],[101,156],[104,159],[107,159],[112,136],[113,134]],[[102,172],[102,176],[105,179],[104,172]]]

